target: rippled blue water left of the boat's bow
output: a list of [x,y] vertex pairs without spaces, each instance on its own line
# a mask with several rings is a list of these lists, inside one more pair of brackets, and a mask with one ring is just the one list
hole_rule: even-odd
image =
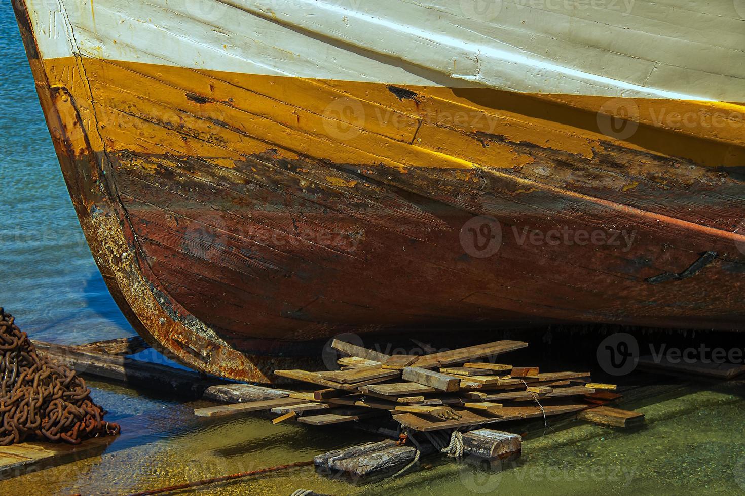
[[43,341],[133,335],[77,222],[10,1],[0,3],[0,57],[0,306]]

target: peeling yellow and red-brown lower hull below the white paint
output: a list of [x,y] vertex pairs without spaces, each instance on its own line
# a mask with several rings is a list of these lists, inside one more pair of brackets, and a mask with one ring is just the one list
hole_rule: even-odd
[[[306,342],[345,331],[742,329],[735,138],[648,126],[609,141],[592,99],[558,115],[556,100],[495,90],[41,60],[16,16],[104,280],[189,367],[273,381],[311,366]],[[341,122],[325,112],[340,98],[384,117]],[[683,141],[696,146],[670,146]],[[648,283],[659,274],[678,277]]]

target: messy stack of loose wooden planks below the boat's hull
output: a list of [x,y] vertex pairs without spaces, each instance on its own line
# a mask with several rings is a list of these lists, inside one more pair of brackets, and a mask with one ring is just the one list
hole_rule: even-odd
[[275,372],[320,389],[196,413],[270,410],[279,415],[273,422],[295,419],[310,425],[392,416],[410,430],[437,431],[579,412],[618,396],[609,392],[614,385],[592,383],[589,373],[495,363],[500,355],[527,347],[522,341],[422,356],[385,355],[337,340],[332,347],[347,355],[338,361],[341,370]]

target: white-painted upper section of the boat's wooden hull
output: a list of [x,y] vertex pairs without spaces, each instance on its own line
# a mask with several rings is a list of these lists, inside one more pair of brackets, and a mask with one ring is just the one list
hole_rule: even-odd
[[326,80],[745,102],[745,0],[741,8],[738,0],[714,3],[28,1],[45,58],[81,54]]

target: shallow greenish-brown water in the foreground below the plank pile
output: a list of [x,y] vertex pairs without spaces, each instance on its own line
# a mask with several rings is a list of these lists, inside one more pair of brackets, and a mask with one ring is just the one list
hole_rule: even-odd
[[[185,404],[92,385],[95,396],[112,405],[112,419],[122,423],[124,434],[101,457],[0,482],[0,494],[126,495],[310,460],[376,440],[340,426],[272,425],[256,416],[197,418],[193,408],[206,402]],[[561,429],[554,424],[556,431],[532,433],[523,457],[502,470],[435,456],[423,460],[422,471],[367,486],[328,480],[305,467],[176,494],[286,496],[299,488],[381,496],[745,494],[743,385],[690,388],[682,397],[650,402],[639,409],[647,415],[647,425],[636,431],[580,422]]]

